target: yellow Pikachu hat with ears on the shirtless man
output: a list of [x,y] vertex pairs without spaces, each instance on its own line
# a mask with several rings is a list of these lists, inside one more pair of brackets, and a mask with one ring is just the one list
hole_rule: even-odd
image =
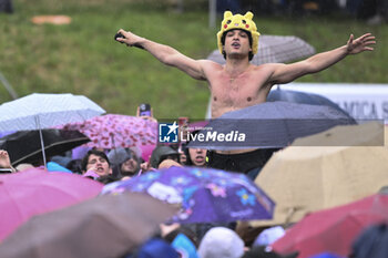
[[242,14],[233,16],[231,11],[224,12],[224,20],[221,22],[221,30],[217,33],[217,44],[221,53],[223,53],[223,43],[221,42],[221,38],[226,31],[234,30],[234,29],[245,30],[251,33],[252,52],[253,54],[257,53],[258,37],[261,35],[261,33],[258,33],[256,24],[252,20],[252,18],[253,18],[252,12],[247,12],[245,13],[245,16],[242,16]]

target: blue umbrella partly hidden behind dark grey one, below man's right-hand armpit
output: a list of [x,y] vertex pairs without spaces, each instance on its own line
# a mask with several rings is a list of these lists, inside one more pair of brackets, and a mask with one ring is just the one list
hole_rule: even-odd
[[351,117],[347,112],[345,112],[343,109],[339,107],[336,103],[330,101],[329,99],[314,93],[307,93],[307,92],[298,92],[298,91],[289,91],[289,90],[283,90],[279,86],[269,91],[269,94],[267,96],[267,101],[274,102],[274,101],[287,101],[287,102],[294,102],[294,103],[300,103],[300,104],[309,104],[309,105],[327,105],[331,106],[339,112],[344,113],[345,115]]

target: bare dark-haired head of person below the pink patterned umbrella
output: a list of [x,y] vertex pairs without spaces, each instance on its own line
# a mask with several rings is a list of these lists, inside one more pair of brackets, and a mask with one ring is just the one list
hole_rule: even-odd
[[91,149],[83,157],[82,173],[94,172],[99,176],[112,174],[110,161],[104,152]]

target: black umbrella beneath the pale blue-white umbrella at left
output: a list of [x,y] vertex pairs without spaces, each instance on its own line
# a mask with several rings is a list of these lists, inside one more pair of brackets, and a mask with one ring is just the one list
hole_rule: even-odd
[[[78,131],[42,130],[44,152],[48,156],[60,155],[90,140]],[[0,138],[0,149],[6,149],[12,165],[41,157],[40,132],[19,131]]]

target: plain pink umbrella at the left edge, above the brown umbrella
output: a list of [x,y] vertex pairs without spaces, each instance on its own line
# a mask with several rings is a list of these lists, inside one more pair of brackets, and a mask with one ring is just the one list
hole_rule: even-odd
[[0,241],[31,216],[89,199],[101,189],[102,184],[80,175],[39,168],[0,175]]

